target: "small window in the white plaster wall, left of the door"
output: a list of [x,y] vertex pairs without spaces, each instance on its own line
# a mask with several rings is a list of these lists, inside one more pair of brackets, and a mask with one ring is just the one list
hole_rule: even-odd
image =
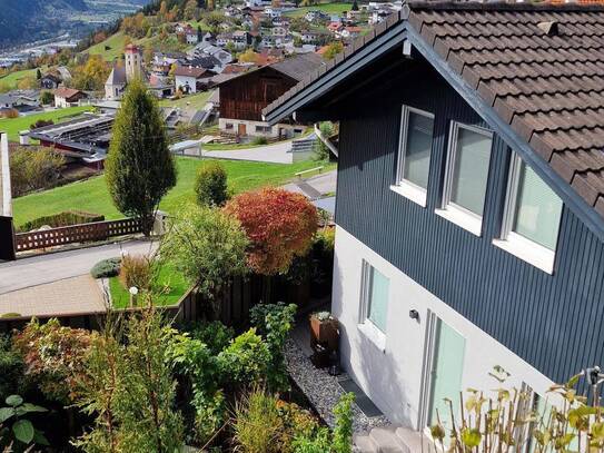
[[390,280],[369,263],[363,262],[360,324],[370,322],[386,332]]

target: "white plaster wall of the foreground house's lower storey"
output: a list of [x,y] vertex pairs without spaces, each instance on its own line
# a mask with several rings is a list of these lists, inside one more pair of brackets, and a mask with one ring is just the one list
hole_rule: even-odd
[[[390,279],[386,346],[376,347],[358,329],[362,260]],[[435,266],[438,263],[434,264]],[[337,227],[333,312],[341,324],[341,363],[390,421],[418,426],[428,309],[466,339],[463,388],[491,391],[493,366],[512,374],[506,386],[529,385],[545,395],[552,382],[493,337],[449,308],[363,243]],[[463,284],[461,282],[459,284]],[[419,322],[409,311],[419,312]]]

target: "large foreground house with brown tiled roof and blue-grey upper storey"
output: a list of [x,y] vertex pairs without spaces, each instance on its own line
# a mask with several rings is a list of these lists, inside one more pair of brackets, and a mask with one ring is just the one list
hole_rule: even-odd
[[602,6],[410,2],[263,110],[290,116],[339,121],[341,364],[404,426],[362,451],[494,366],[544,407],[604,365]]

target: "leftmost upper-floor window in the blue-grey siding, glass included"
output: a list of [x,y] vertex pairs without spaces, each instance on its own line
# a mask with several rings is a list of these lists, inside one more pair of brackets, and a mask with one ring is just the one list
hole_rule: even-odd
[[403,106],[396,187],[413,201],[426,206],[434,115]]

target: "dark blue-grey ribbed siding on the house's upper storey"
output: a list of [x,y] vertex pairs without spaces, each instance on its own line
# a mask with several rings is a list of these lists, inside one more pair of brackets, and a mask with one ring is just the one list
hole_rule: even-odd
[[[432,70],[374,87],[340,110],[337,224],[552,380],[602,365],[603,244],[564,207],[554,275],[492,245],[511,157],[497,135],[482,237],[437,216],[450,121],[488,126]],[[435,114],[426,208],[389,189],[402,104]]]

